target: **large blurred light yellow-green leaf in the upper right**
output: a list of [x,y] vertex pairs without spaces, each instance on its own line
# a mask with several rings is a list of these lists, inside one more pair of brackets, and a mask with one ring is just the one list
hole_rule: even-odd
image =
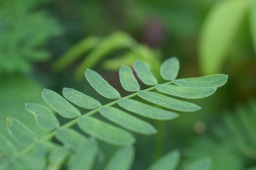
[[[250,8],[251,6],[254,7]],[[234,44],[237,31],[249,10],[252,10],[250,22],[252,37],[255,39],[254,8],[253,0],[220,1],[216,4],[205,20],[201,33],[199,53],[202,73],[220,72],[230,47]]]

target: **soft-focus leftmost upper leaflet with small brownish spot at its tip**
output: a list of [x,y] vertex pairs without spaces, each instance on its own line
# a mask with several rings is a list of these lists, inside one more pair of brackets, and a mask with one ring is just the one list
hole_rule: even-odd
[[26,125],[22,124],[22,122],[12,117],[6,117],[4,120],[6,121],[7,131],[15,141],[23,144],[29,144],[35,141],[35,133],[26,127]]

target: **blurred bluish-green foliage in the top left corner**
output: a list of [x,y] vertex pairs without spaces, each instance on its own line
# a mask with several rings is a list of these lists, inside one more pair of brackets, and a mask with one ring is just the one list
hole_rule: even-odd
[[31,62],[51,57],[45,43],[63,29],[45,10],[36,10],[42,3],[42,0],[0,2],[0,74],[28,73]]

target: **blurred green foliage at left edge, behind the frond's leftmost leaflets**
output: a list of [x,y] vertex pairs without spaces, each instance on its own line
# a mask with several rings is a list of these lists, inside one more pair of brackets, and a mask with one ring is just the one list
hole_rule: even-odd
[[[3,80],[3,79],[2,79]],[[35,130],[36,134],[43,134],[44,131],[38,128],[33,116],[28,114],[24,108],[24,102],[35,101],[43,103],[40,94],[42,87],[34,80],[22,76],[4,78],[0,83],[0,132],[6,135],[4,117],[15,117]],[[38,95],[35,95],[38,94]]]

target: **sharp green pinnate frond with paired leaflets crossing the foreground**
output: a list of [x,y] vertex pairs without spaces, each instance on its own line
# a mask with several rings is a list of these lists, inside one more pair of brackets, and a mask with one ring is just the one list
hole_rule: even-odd
[[[175,74],[179,71],[179,67],[177,67],[177,59],[172,58],[171,60],[168,60],[168,62],[164,63],[173,66],[174,68],[172,70],[175,72]],[[157,92],[157,86],[160,86],[160,84],[157,84],[157,80],[154,77],[154,75],[150,72],[150,69],[148,69],[148,67],[140,60],[136,60],[136,62],[134,62],[134,69],[138,74],[139,78],[145,84],[154,86],[149,87],[145,90],[139,90],[138,92],[134,92],[133,94],[130,94],[126,97],[121,97],[119,92],[116,89],[114,89],[111,85],[109,85],[109,83],[95,71],[92,71],[91,69],[87,69],[85,71],[86,79],[88,80],[90,85],[92,85],[93,89],[95,89],[99,94],[108,99],[115,99],[114,101],[110,101],[108,104],[104,104],[103,106],[101,106],[101,104],[92,97],[86,96],[81,92],[78,92],[73,89],[63,89],[63,95],[67,97],[69,101],[72,101],[72,103],[77,104],[77,106],[82,106],[82,108],[91,109],[91,111],[88,111],[85,114],[81,114],[81,112],[75,106],[68,103],[66,99],[61,97],[56,92],[47,89],[43,90],[42,97],[44,98],[45,102],[49,106],[51,106],[52,110],[56,111],[56,113],[58,113],[61,117],[67,119],[72,118],[72,120],[70,120],[70,122],[67,122],[67,124],[59,125],[58,120],[54,117],[51,111],[46,109],[44,106],[40,106],[38,104],[26,104],[26,108],[33,115],[35,115],[36,122],[38,123],[38,125],[40,125],[40,127],[48,129],[52,129],[53,127],[55,128],[42,138],[37,138],[36,135],[31,130],[29,130],[28,127],[26,127],[26,125],[22,124],[19,120],[16,120],[15,118],[11,117],[6,118],[7,129],[8,132],[10,132],[12,138],[19,143],[26,143],[27,146],[23,150],[13,155],[13,157],[10,157],[6,161],[4,161],[3,168],[12,169],[12,167],[15,167],[17,165],[20,166],[19,160],[26,159],[27,157],[25,157],[24,155],[28,155],[28,160],[22,160],[24,164],[28,164],[28,161],[31,162],[31,157],[35,157],[34,159],[36,160],[33,161],[33,163],[40,164],[40,166],[42,166],[42,168],[40,167],[38,169],[44,169],[45,159],[42,159],[42,157],[45,158],[45,155],[52,152],[52,145],[56,144],[49,142],[49,140],[56,136],[56,139],[63,143],[63,147],[67,147],[72,152],[74,152],[74,154],[71,154],[71,157],[68,161],[68,167],[70,167],[70,169],[81,169],[81,167],[83,167],[84,169],[92,169],[93,162],[95,162],[95,158],[99,153],[99,147],[97,146],[96,139],[99,139],[100,141],[115,146],[131,147],[131,145],[135,143],[136,139],[128,131],[147,135],[155,134],[157,132],[157,130],[148,122],[146,122],[145,120],[141,120],[140,118],[137,118],[131,115],[130,113],[127,113],[127,111],[116,108],[114,106],[115,104],[120,105],[122,108],[125,108],[125,110],[132,111],[134,113],[137,113],[138,115],[142,115],[143,117],[149,117],[156,120],[170,120],[178,117],[178,114],[173,111],[163,110],[153,104],[150,106],[141,101],[130,99],[131,97],[138,96],[141,99],[145,99],[145,101],[148,101],[149,103],[154,103],[159,106],[163,106],[164,108],[168,108],[170,110],[196,111],[200,109],[200,107],[196,104],[189,103],[187,101],[182,101],[179,99],[173,99],[170,96],[159,94]],[[163,66],[162,72],[166,77],[174,78],[172,72],[165,71],[164,69],[169,69],[169,67]],[[134,78],[132,77],[133,75],[131,75],[131,70],[129,70],[129,74],[129,76],[126,76],[126,74],[120,74],[120,76],[123,76],[120,79],[126,82],[125,85],[127,85],[127,82],[129,82],[127,80]],[[213,90],[211,91],[211,94],[213,94],[213,92],[215,92],[216,90],[215,88],[224,85],[226,81],[227,76],[223,74],[216,74],[202,78],[172,80],[161,85],[180,83],[181,86],[188,86],[188,89],[195,88],[197,91],[192,90],[194,93],[195,91],[198,92],[198,89],[200,88],[204,90],[208,88]],[[130,83],[132,83],[132,81],[130,81]],[[193,83],[195,83],[195,85],[193,85]],[[193,87],[190,87],[192,85]],[[180,89],[181,94],[188,93],[188,89],[184,89],[184,92],[182,92],[182,88]],[[156,90],[156,92],[150,92],[150,90]],[[200,94],[200,90],[198,93]],[[195,96],[195,94],[193,95]],[[210,94],[207,94],[205,95],[205,97],[209,95]],[[200,96],[200,98],[201,97],[202,96]],[[88,101],[88,103],[86,103],[86,101]],[[86,106],[84,106],[84,103],[86,103]],[[43,112],[45,112],[45,115],[43,115]],[[120,127],[116,127],[115,125],[111,125],[108,122],[105,122],[104,120],[100,120],[100,118],[94,117],[94,115],[98,112],[104,118],[107,118],[109,121],[118,124],[121,127],[124,127],[128,131]],[[51,120],[49,120],[50,124],[46,125],[45,121],[47,121],[49,118],[51,118]],[[89,136],[92,136],[93,138],[88,139],[79,132],[75,131],[74,129],[71,129],[72,125],[75,124],[78,125],[81,131],[85,132]],[[6,142],[4,138],[2,139],[2,141],[4,141],[3,143],[6,144],[9,143]],[[37,152],[35,150],[37,147],[41,150],[41,152]],[[59,148],[59,146],[57,146],[57,148]],[[65,151],[58,150],[58,152],[56,151],[56,154],[60,154],[61,152]],[[37,156],[39,153],[40,156]],[[124,158],[122,157],[125,156],[123,154],[129,158],[125,163],[125,167],[129,169],[129,167],[131,167],[131,162],[133,159],[133,151],[131,151],[131,148],[124,148],[124,150],[118,151],[113,156],[113,159],[111,159],[111,162],[109,162],[107,168],[113,166],[116,166],[116,168],[118,168],[120,165],[113,165],[113,162],[117,161],[116,159],[124,161]],[[163,164],[156,163],[155,166],[158,166],[157,164],[166,164],[166,159],[170,159],[170,157],[176,157],[177,154],[179,153],[174,152],[173,154],[174,155],[171,154],[172,156],[168,155],[163,159],[159,160],[160,162],[163,162]],[[120,157],[117,158],[116,155],[120,155]],[[63,159],[65,159],[64,156]],[[60,159],[59,162],[63,162],[63,159]],[[177,162],[177,160],[175,161]],[[56,166],[60,167],[60,164]],[[173,168],[174,167],[175,162],[173,163]]]

